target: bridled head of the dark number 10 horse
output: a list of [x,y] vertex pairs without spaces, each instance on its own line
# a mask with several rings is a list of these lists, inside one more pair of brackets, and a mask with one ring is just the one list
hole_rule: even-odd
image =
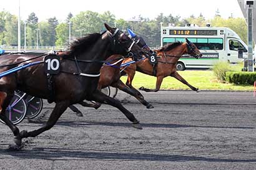
[[104,25],[107,29],[107,34],[111,37],[111,49],[114,54],[122,54],[127,57],[132,56],[134,57],[134,60],[142,58],[142,55],[145,53],[134,40],[130,39],[130,37],[119,29],[113,28],[106,23]]

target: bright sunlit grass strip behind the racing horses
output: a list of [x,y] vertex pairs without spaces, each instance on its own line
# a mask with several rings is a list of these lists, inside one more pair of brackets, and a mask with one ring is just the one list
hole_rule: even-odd
[[[217,80],[212,70],[185,70],[179,74],[194,87],[200,90],[234,90],[234,91],[253,91],[253,85],[234,85],[233,83],[222,83]],[[122,82],[126,83],[127,77],[121,77]],[[140,72],[135,73],[132,85],[135,88],[144,86],[145,88],[155,88],[156,77],[145,75]],[[160,90],[190,90],[187,85],[179,82],[174,77],[165,77]]]

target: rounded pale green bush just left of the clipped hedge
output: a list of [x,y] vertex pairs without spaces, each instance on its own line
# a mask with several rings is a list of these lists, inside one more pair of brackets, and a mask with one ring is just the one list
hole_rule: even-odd
[[217,80],[224,82],[226,79],[226,72],[229,72],[231,68],[228,62],[221,61],[214,64],[212,70],[214,71],[214,75],[217,77]]

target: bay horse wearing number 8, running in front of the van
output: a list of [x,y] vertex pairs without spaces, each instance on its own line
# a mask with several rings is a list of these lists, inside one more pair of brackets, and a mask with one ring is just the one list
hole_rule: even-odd
[[[140,87],[139,90],[144,90],[145,92],[157,92],[160,89],[162,80],[167,76],[171,76],[189,86],[189,88],[192,90],[199,92],[199,88],[195,88],[194,86],[190,85],[184,78],[179,75],[176,70],[177,61],[184,54],[189,54],[196,59],[202,57],[202,54],[200,53],[199,49],[197,49],[195,44],[190,42],[188,39],[185,39],[184,43],[174,42],[172,44],[167,44],[161,49],[155,50],[154,52],[157,57],[157,64],[155,64],[155,67],[150,64],[149,59],[145,59],[135,62],[135,64],[129,65],[129,67],[124,70],[124,72],[126,72],[128,75],[126,81],[126,85],[128,87],[136,90],[134,87],[132,87],[132,80],[134,78],[135,71],[137,70],[147,75],[157,77],[155,89]],[[126,62],[129,62],[129,59],[124,59],[123,63]]]

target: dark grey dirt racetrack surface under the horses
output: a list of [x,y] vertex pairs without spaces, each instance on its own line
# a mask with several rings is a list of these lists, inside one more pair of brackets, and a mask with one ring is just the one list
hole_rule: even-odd
[[[0,124],[0,169],[256,169],[256,98],[252,92],[161,91],[143,93],[147,110],[119,93],[140,120],[136,130],[116,108],[71,110],[56,126],[7,151],[12,133]],[[45,103],[44,110],[52,110]],[[49,115],[42,119],[45,121]],[[18,125],[34,130],[42,123]]]

